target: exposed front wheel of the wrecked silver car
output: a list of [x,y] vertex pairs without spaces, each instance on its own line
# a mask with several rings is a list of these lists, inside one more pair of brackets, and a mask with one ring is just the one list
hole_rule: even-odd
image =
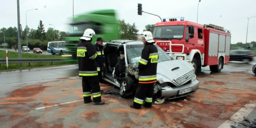
[[130,77],[124,77],[120,83],[120,94],[122,98],[130,98],[134,95],[132,91],[133,80]]

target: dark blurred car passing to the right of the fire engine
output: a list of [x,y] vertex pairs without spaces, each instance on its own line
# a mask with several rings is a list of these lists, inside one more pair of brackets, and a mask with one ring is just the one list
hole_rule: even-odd
[[254,54],[250,50],[230,50],[230,61],[243,61],[249,63],[253,60]]

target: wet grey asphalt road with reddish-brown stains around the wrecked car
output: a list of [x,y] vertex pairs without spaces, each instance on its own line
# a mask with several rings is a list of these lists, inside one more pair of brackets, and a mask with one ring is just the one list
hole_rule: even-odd
[[[254,59],[255,60],[255,59]],[[220,73],[197,74],[195,94],[131,109],[133,99],[102,94],[105,105],[83,103],[77,65],[0,73],[1,128],[230,128],[253,112],[256,76],[252,65],[230,61]],[[102,83],[104,91],[118,91]],[[241,114],[242,112],[242,114]]]

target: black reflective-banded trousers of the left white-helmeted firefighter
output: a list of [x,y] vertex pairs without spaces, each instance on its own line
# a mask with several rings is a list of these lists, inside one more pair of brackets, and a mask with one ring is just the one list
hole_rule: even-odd
[[83,86],[83,97],[84,102],[91,101],[91,95],[93,102],[101,102],[101,92],[99,87],[98,77],[83,77],[82,78]]

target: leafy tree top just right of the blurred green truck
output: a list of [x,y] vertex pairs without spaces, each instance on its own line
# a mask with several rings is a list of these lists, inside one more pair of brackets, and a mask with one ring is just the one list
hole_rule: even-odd
[[129,23],[126,24],[124,19],[118,20],[119,23],[119,35],[123,39],[137,39],[137,32],[139,30],[135,26],[135,23],[130,25]]

